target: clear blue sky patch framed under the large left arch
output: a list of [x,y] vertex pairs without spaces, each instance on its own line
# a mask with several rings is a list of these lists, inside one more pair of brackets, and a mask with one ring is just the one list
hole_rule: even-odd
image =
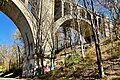
[[0,45],[13,44],[12,34],[16,31],[14,22],[0,11]]

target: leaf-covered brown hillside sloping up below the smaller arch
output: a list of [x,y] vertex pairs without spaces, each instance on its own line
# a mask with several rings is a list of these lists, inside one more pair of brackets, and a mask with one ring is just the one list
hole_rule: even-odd
[[[120,40],[105,38],[100,44],[105,77],[98,74],[95,46],[85,50],[83,59],[79,46],[74,51],[70,48],[57,54],[57,64],[52,74],[38,76],[38,80],[120,80]],[[66,65],[65,65],[66,64]]]

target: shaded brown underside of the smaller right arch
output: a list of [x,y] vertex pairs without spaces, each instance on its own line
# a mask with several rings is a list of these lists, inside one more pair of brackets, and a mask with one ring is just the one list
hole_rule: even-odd
[[[70,27],[73,28],[76,31],[79,31],[81,35],[87,40],[90,36],[93,35],[91,25],[85,22],[84,20],[75,20],[75,19],[70,19],[65,21],[62,25],[62,27]],[[89,42],[90,40],[87,40]]]

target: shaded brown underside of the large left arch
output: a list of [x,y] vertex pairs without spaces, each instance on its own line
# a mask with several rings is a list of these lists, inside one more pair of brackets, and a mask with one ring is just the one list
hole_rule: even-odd
[[[20,3],[18,3],[20,4]],[[21,4],[22,5],[22,4]],[[26,15],[23,14],[22,10],[19,8],[20,5],[16,5],[12,0],[8,1],[6,6],[3,6],[1,8],[1,11],[6,14],[17,26],[17,28],[20,30],[21,35],[24,40],[25,48],[26,50],[30,47],[29,44],[34,44],[33,40],[33,34],[31,31],[31,27],[26,19]],[[26,51],[27,53],[30,53]]]

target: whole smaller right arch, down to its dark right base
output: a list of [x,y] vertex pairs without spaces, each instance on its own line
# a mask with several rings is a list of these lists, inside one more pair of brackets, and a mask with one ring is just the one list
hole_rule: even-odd
[[[80,35],[78,37],[80,38],[82,36],[81,40],[83,40],[83,42],[91,43],[93,41],[93,33],[90,22],[83,18],[75,19],[73,16],[64,16],[55,22],[55,29],[59,30],[59,27],[72,28],[77,32],[77,35],[80,31]],[[58,31],[56,31],[55,34],[57,34],[57,32]]]

